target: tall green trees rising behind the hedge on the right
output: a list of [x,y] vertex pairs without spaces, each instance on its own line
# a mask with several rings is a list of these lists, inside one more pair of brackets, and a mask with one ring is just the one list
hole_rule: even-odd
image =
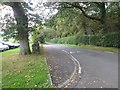
[[47,23],[57,37],[88,34],[88,29],[93,34],[118,32],[119,11],[118,2],[61,2],[58,13]]

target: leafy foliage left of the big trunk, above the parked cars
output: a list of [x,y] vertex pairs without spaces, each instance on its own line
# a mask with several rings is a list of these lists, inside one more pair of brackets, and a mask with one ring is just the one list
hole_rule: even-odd
[[2,25],[2,37],[4,41],[9,41],[10,38],[14,41],[18,41],[18,33],[16,30],[15,19],[8,13],[4,17],[1,17]]

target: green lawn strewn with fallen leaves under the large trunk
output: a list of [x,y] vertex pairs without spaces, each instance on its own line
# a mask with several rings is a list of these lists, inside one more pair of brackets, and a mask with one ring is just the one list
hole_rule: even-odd
[[19,49],[2,52],[2,88],[52,88],[45,56],[19,56]]

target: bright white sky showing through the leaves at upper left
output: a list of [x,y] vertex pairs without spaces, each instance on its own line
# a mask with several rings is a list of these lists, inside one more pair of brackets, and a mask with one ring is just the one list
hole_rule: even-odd
[[[44,17],[45,19],[48,19],[50,16],[54,15],[57,13],[58,10],[54,10],[52,13],[50,13],[50,9],[46,9],[43,4],[39,5],[39,7],[37,7],[37,4],[39,3],[39,0],[26,0],[26,2],[32,2],[33,4],[30,5],[32,8],[34,8],[34,11],[29,11],[29,13],[33,13],[33,14],[38,14],[40,15],[41,17]],[[3,28],[2,27],[2,24],[4,21],[4,16],[6,14],[10,14],[12,17],[14,17],[14,13],[13,13],[13,10],[11,7],[9,6],[6,6],[6,5],[1,5],[0,4],[0,29]],[[49,15],[48,15],[49,14]],[[43,21],[44,22],[44,21]],[[3,33],[1,32],[0,30],[0,34]]]

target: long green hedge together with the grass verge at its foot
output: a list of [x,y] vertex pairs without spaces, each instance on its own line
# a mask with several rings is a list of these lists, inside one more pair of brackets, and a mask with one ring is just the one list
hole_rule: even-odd
[[82,35],[64,38],[54,38],[50,42],[65,44],[79,48],[86,48],[98,51],[118,53],[120,48],[120,33],[109,33],[104,35]]

